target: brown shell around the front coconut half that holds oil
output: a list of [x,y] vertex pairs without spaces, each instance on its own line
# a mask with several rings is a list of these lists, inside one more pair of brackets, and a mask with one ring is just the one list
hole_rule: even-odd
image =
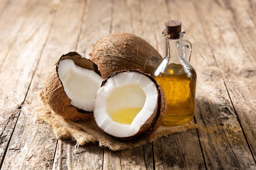
[[164,94],[164,90],[162,89],[162,87],[159,84],[157,84],[157,82],[155,81],[155,79],[152,76],[150,76],[147,73],[144,73],[143,71],[135,70],[135,69],[131,69],[128,71],[127,70],[116,71],[116,72],[112,73],[111,75],[109,75],[102,82],[101,86],[104,86],[104,84],[108,81],[109,78],[111,78],[119,73],[123,73],[123,72],[136,72],[136,73],[143,74],[143,75],[147,76],[148,78],[150,78],[157,88],[158,99],[157,99],[157,104],[156,104],[154,113],[148,118],[148,120],[145,122],[145,124],[141,126],[141,128],[138,130],[138,132],[134,136],[124,137],[124,138],[115,137],[115,138],[121,139],[121,140],[136,139],[137,137],[146,138],[146,137],[152,135],[157,130],[157,128],[159,128],[164,122],[164,117],[165,117],[166,111],[167,111],[167,101],[166,101],[166,97]]

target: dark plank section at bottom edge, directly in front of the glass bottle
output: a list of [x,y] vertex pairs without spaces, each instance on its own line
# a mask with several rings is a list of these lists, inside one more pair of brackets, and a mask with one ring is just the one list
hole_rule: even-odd
[[206,169],[196,130],[153,142],[155,169]]

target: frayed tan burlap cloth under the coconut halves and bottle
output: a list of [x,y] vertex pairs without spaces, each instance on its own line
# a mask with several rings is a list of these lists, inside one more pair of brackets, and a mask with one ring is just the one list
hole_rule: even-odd
[[93,116],[85,121],[71,121],[56,115],[47,105],[38,107],[34,114],[37,119],[47,122],[52,127],[57,139],[70,138],[77,141],[81,146],[88,144],[89,142],[98,142],[100,147],[108,147],[111,150],[135,148],[139,145],[155,141],[165,135],[197,128],[197,124],[192,122],[182,126],[162,125],[153,134],[147,137],[142,135],[141,137],[132,140],[121,140],[116,139],[101,130],[101,128],[97,126]]

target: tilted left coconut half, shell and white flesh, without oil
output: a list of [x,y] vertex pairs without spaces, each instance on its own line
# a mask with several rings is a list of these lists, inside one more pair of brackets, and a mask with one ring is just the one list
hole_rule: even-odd
[[47,71],[40,96],[58,115],[70,120],[91,117],[102,77],[91,60],[76,52],[62,55]]

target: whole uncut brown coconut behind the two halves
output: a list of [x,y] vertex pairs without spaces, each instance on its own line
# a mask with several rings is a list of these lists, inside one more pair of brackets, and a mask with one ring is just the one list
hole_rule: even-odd
[[162,56],[144,39],[130,33],[113,33],[93,45],[90,60],[98,65],[102,77],[120,70],[153,72]]

